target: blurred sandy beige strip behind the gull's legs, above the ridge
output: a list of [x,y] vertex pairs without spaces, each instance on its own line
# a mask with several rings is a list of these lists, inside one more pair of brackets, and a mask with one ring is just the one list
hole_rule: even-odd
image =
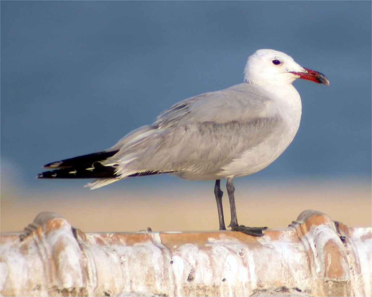
[[[84,232],[215,230],[218,228],[214,183],[167,189],[150,185],[113,192],[85,188],[55,193],[22,193],[2,185],[1,232],[23,230],[42,211],[67,219]],[[225,186],[225,185],[224,185]],[[188,188],[187,188],[188,187]],[[238,222],[246,226],[282,228],[307,209],[328,214],[349,227],[372,226],[369,181],[292,181],[271,185],[235,183]],[[230,223],[225,187],[224,211]],[[104,193],[104,194],[103,194]]]

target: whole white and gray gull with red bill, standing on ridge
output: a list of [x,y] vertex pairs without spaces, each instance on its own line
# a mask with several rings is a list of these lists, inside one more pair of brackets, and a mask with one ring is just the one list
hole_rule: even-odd
[[297,78],[329,85],[320,72],[283,52],[260,49],[248,58],[244,83],[174,104],[109,149],[52,162],[38,178],[96,178],[99,188],[129,177],[169,173],[215,180],[219,229],[226,230],[220,180],[227,179],[231,230],[263,236],[267,227],[239,225],[232,179],[267,167],[294,139],[301,119]]

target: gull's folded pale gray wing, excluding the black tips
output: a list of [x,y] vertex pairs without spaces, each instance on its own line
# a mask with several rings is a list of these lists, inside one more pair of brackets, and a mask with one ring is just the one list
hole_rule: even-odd
[[[183,100],[153,125],[126,135],[104,164],[121,178],[139,172],[176,172],[213,179],[221,168],[275,134],[281,119],[257,87],[240,84]],[[110,149],[110,150],[111,150]]]

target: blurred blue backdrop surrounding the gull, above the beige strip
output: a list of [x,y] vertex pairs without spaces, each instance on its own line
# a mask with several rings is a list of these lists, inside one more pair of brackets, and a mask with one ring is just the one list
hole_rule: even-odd
[[[294,141],[239,180],[371,177],[371,1],[2,1],[0,20],[1,176],[18,188],[80,189],[87,181],[35,177],[109,148],[182,99],[241,83],[260,48],[330,86],[295,81]],[[98,191],[143,183],[201,182],[143,177]]]

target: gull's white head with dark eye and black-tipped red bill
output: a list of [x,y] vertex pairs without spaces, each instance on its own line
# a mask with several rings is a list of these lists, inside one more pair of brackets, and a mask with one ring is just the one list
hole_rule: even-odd
[[259,85],[292,84],[296,78],[329,85],[328,79],[320,72],[303,68],[287,54],[273,49],[259,49],[251,55],[244,74],[244,81]]

